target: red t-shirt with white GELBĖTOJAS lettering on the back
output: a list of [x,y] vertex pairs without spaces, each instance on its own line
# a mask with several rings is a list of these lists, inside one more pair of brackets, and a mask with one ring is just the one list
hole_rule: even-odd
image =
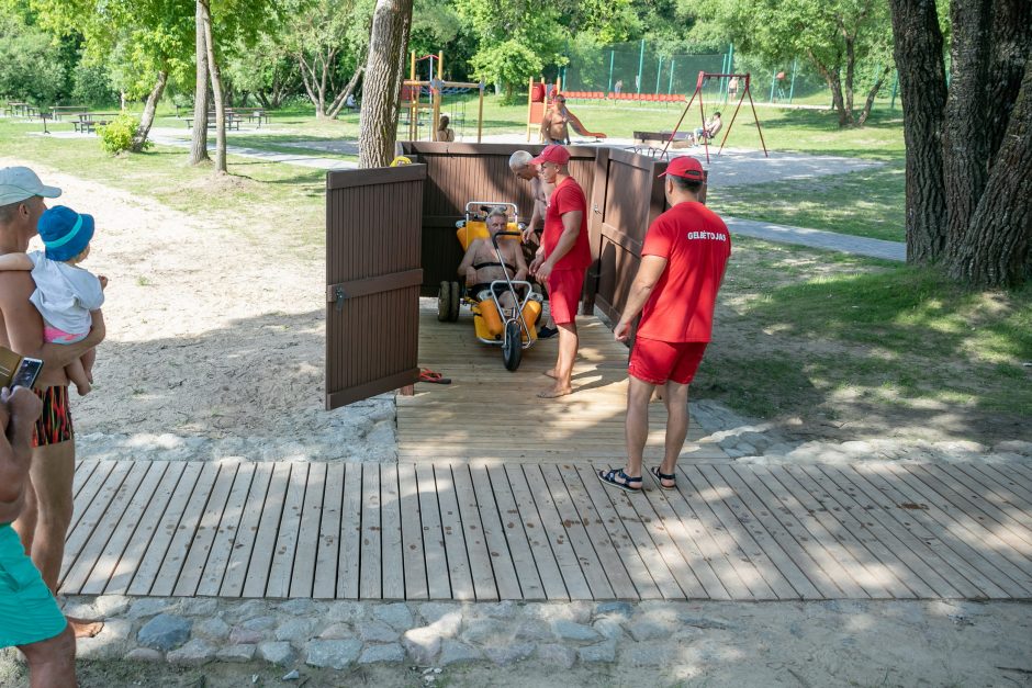
[[731,255],[723,221],[702,203],[678,203],[649,227],[641,255],[668,262],[641,311],[638,337],[709,341],[717,290]]

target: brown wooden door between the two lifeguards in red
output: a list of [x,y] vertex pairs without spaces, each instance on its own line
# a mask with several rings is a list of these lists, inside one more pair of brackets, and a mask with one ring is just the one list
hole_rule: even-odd
[[[638,272],[646,232],[666,210],[663,180],[657,179],[665,169],[665,160],[616,148],[599,148],[595,158],[588,224],[595,258],[594,305],[614,324],[620,319]],[[586,285],[585,291],[590,289]]]

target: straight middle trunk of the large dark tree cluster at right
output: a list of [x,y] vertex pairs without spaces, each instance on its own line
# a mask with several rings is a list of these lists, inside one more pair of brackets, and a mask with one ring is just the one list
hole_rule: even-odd
[[972,214],[988,180],[989,137],[986,132],[991,0],[951,3],[953,25],[950,93],[943,137],[946,191],[946,251],[966,243]]

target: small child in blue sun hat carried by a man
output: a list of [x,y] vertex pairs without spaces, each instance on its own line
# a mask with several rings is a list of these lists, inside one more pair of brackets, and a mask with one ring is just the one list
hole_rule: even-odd
[[[32,270],[36,290],[30,301],[43,316],[44,341],[70,345],[85,339],[93,324],[90,312],[104,303],[108,279],[79,267],[90,255],[93,229],[92,215],[55,205],[40,216],[45,250],[0,256],[0,270]],[[97,352],[90,349],[65,366],[80,395],[89,394],[92,387],[96,358]]]

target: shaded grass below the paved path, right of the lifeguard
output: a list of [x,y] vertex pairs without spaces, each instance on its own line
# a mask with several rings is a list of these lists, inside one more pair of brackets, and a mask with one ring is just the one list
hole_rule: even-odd
[[751,415],[1032,417],[1032,285],[739,237],[721,305],[694,388]]

